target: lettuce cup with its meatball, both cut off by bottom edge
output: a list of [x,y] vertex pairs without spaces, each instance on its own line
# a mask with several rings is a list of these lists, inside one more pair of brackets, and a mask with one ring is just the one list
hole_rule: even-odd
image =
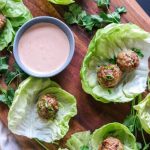
[[95,130],[91,137],[92,150],[137,150],[136,139],[120,123],[109,123]]

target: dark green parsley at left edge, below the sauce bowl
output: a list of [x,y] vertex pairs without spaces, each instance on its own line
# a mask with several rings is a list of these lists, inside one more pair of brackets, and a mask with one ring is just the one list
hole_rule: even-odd
[[27,78],[28,75],[25,74],[16,63],[14,63],[12,70],[8,70],[8,68],[8,57],[0,57],[0,74],[4,77],[7,85],[6,89],[0,87],[0,102],[10,107],[15,93],[15,88],[11,86],[11,83],[15,80],[18,85],[22,80]]

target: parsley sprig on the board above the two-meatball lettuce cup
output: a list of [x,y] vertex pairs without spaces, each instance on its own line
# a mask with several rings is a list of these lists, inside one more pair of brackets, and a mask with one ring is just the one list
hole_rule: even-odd
[[[106,1],[105,1],[106,2]],[[102,4],[102,1],[99,1]],[[104,4],[104,2],[103,2]],[[108,3],[106,2],[107,9]],[[120,14],[127,12],[125,7],[118,7],[114,12],[90,15],[81,8],[78,4],[69,5],[68,11],[64,14],[64,19],[68,24],[78,24],[84,27],[87,31],[92,31],[94,28],[101,28],[109,23],[119,23]]]

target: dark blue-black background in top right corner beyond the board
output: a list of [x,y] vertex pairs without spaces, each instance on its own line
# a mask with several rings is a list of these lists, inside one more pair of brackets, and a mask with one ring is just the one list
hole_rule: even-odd
[[145,12],[150,16],[150,0],[137,0]]

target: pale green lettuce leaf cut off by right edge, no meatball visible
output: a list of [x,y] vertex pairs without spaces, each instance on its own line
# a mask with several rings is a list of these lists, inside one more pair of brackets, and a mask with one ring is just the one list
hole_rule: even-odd
[[150,94],[138,105],[134,106],[134,109],[137,110],[142,128],[150,134]]

